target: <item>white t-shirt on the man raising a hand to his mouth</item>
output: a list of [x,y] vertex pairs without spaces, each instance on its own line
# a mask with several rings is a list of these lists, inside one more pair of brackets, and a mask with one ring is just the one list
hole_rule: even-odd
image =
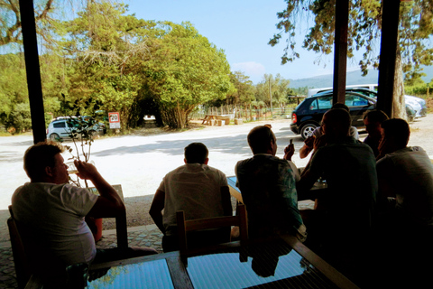
[[96,202],[97,195],[67,183],[26,182],[12,196],[14,218],[36,228],[41,244],[66,265],[95,258],[95,239],[84,218]]

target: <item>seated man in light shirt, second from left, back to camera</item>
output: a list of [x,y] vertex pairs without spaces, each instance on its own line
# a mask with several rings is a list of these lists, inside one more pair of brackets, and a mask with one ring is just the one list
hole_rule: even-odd
[[[149,213],[164,234],[164,252],[179,249],[176,211],[184,210],[187,220],[233,214],[226,175],[207,165],[207,155],[205,144],[185,147],[185,164],[165,175],[153,197]],[[187,239],[189,247],[229,242],[230,228],[191,232]]]

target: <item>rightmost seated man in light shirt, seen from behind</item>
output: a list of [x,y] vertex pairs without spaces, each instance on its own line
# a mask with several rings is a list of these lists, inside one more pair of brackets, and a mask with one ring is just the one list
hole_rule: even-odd
[[395,198],[399,224],[433,229],[433,165],[419,146],[407,146],[410,127],[403,119],[382,122],[376,170],[379,196]]

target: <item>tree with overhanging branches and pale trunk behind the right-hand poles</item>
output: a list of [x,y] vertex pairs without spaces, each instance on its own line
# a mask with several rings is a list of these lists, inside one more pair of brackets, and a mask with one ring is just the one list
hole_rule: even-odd
[[[302,47],[323,54],[332,52],[335,28],[336,0],[285,0],[287,9],[278,13],[279,33],[274,34],[269,44],[272,46],[287,35],[287,46],[281,57],[282,63],[299,58],[296,51],[296,26],[299,19],[314,16],[314,24],[309,28]],[[364,75],[368,68],[377,69],[378,47],[382,27],[382,2],[380,0],[350,1],[347,56],[353,57],[354,51],[364,51],[359,66]],[[303,17],[301,17],[301,15]],[[305,17],[307,16],[307,17]],[[394,78],[393,117],[405,117],[402,72],[413,70],[411,75],[419,76],[420,64],[431,65],[433,50],[429,47],[429,37],[433,33],[433,5],[430,0],[401,2],[401,21],[399,45]]]

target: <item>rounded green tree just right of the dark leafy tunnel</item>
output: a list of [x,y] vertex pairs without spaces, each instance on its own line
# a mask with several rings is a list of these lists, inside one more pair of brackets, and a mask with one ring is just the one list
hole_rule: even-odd
[[145,85],[158,99],[162,121],[188,125],[189,113],[209,100],[224,99],[235,87],[224,51],[209,43],[191,23],[163,23],[165,33],[144,64]]

